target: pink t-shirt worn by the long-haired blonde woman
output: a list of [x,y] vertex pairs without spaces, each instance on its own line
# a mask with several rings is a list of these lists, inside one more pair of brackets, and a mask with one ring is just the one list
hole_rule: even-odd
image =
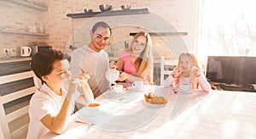
[[[123,51],[119,54],[119,57],[123,60],[123,63],[124,63],[123,69],[125,73],[132,75],[136,73],[137,69],[136,69],[136,65],[131,63],[130,55],[131,55],[130,51]],[[143,82],[144,82],[144,85],[149,85],[148,79],[146,79]]]

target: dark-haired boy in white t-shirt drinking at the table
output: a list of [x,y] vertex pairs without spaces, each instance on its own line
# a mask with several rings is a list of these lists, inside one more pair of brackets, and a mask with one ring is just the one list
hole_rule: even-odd
[[[32,70],[44,85],[33,94],[29,104],[27,138],[40,138],[49,131],[61,134],[66,130],[74,102],[80,95],[76,91],[79,80],[71,80],[69,61],[69,56],[55,50],[39,52],[32,57]],[[86,84],[88,74],[80,78]]]

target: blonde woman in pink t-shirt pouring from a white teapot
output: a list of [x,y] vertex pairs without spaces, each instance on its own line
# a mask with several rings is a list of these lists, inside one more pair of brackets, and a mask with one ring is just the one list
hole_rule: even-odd
[[117,69],[122,70],[118,81],[126,83],[143,81],[144,85],[153,85],[152,41],[148,33],[140,31],[131,41],[131,45],[120,53]]

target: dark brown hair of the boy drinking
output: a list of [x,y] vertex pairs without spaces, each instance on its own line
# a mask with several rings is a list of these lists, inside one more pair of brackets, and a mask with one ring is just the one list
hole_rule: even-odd
[[51,73],[55,61],[61,61],[63,59],[67,59],[69,62],[71,60],[68,54],[61,53],[60,51],[53,49],[40,51],[32,57],[31,68],[35,75],[43,81],[42,76]]

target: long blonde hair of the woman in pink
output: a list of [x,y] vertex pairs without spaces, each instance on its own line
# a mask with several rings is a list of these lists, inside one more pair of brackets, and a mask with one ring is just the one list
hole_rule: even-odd
[[139,57],[136,59],[135,64],[137,64],[137,75],[142,75],[143,71],[147,68],[150,68],[150,74],[148,76],[148,81],[153,82],[153,54],[152,54],[152,40],[147,32],[137,32],[133,37],[130,46],[127,48],[128,51],[132,51],[132,46],[137,40],[138,36],[145,36],[147,39],[146,47],[143,52],[140,53]]

